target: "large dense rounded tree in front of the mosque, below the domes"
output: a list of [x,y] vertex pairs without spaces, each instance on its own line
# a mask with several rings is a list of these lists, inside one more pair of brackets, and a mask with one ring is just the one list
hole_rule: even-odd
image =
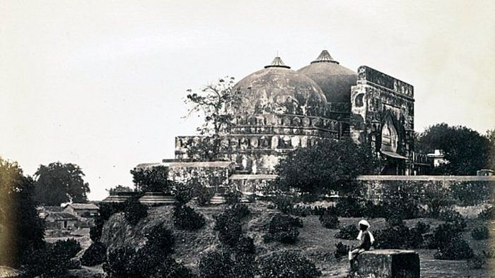
[[378,169],[378,159],[370,147],[350,140],[322,140],[317,145],[289,152],[276,166],[276,186],[296,188],[310,194],[348,191],[359,174]]

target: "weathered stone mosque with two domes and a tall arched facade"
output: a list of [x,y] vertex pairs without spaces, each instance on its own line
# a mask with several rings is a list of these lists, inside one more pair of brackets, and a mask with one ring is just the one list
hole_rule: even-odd
[[297,71],[276,57],[233,90],[241,97],[221,137],[225,161],[190,162],[187,147],[201,137],[178,136],[175,158],[161,163],[175,176],[214,167],[231,180],[272,179],[287,152],[322,138],[370,144],[385,161],[382,174],[421,174],[428,163],[414,152],[414,87],[368,66],[352,71],[327,50]]

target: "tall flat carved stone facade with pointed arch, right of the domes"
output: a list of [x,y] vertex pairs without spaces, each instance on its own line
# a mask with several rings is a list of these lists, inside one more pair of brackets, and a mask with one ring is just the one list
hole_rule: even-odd
[[361,66],[351,87],[350,135],[385,159],[383,174],[413,174],[414,87]]

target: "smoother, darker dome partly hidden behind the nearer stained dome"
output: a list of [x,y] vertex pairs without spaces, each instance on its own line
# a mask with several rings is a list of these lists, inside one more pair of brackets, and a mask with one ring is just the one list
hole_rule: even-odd
[[356,85],[357,73],[340,66],[326,50],[297,72],[314,80],[325,93],[327,102],[351,102],[351,86]]

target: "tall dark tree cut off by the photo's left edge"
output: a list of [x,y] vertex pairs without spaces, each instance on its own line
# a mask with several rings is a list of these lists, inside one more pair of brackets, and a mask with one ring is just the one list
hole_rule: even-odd
[[16,162],[0,157],[0,265],[16,267],[27,250],[45,243],[33,200],[34,181]]

